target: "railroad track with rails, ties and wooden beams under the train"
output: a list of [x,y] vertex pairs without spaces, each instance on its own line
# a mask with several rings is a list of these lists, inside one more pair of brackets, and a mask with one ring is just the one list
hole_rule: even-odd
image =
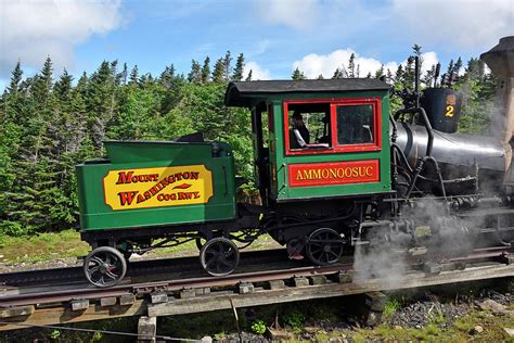
[[[441,259],[438,268],[413,262],[393,283],[389,278],[380,276],[362,278],[347,257],[327,267],[305,266],[298,262],[290,262],[288,267],[285,267],[287,263],[262,267],[265,259],[258,259],[258,268],[257,261],[250,263],[257,253],[249,252],[245,268],[221,278],[184,274],[181,278],[156,281],[128,278],[128,282],[110,289],[93,288],[86,282],[11,288],[4,289],[3,295],[0,291],[0,331],[127,316],[158,317],[227,308],[235,312],[248,306],[512,278],[512,253],[505,247],[477,250],[467,256]],[[273,261],[277,256],[272,255],[280,251],[258,254]]]

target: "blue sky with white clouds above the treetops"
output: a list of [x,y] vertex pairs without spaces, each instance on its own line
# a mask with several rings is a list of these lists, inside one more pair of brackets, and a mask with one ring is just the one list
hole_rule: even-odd
[[17,61],[29,77],[47,56],[55,78],[104,60],[158,76],[231,51],[253,79],[288,79],[296,67],[330,78],[355,53],[364,77],[395,72],[414,43],[425,69],[445,68],[512,35],[512,0],[0,0],[0,90]]

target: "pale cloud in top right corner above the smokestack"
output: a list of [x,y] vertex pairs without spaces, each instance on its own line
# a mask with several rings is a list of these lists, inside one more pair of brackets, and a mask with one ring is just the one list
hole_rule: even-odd
[[416,39],[458,47],[492,47],[514,34],[512,0],[393,0],[391,15]]

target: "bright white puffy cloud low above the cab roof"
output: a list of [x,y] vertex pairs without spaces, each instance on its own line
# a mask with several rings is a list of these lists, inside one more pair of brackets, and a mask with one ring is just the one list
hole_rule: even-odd
[[[374,73],[381,68],[383,64],[381,61],[370,58],[360,56],[357,52],[351,49],[335,50],[326,55],[319,55],[316,53],[304,56],[300,61],[293,63],[293,69],[299,68],[308,78],[317,78],[320,74],[324,78],[331,78],[334,75],[336,68],[348,69],[348,61],[351,53],[355,53],[355,65],[356,68],[359,66],[360,77],[365,77],[368,73],[374,75]],[[384,63],[384,71],[389,68],[393,73],[396,72],[398,63],[387,62]]]

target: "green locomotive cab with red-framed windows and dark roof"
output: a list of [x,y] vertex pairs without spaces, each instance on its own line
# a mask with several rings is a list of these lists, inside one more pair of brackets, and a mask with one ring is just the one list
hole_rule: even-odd
[[[257,185],[265,205],[390,191],[389,98],[383,81],[231,82],[226,104],[252,111]],[[297,129],[294,117],[307,130]],[[306,131],[307,137],[299,137]]]

